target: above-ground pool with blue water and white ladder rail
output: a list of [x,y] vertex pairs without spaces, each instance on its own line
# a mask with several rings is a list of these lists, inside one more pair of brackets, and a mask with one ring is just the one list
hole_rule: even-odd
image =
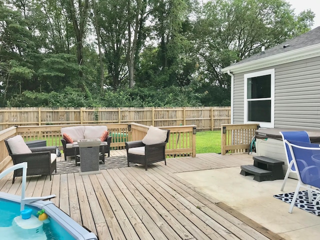
[[[18,168],[23,168],[21,196],[0,192],[0,239],[97,240],[94,233],[80,226],[53,202],[40,200],[55,195],[25,197],[26,162],[15,164],[0,172],[0,179]],[[40,211],[46,214],[41,217],[39,215],[38,218],[37,213]]]

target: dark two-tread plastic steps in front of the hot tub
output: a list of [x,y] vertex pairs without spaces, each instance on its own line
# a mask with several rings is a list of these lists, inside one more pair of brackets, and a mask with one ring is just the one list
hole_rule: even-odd
[[283,161],[267,156],[253,156],[253,165],[241,165],[241,175],[254,175],[253,180],[269,181],[283,179]]

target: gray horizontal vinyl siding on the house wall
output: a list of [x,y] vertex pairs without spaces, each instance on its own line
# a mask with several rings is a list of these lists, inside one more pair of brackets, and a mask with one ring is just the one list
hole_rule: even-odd
[[320,127],[320,57],[234,74],[233,123],[243,123],[244,74],[274,68],[274,127]]

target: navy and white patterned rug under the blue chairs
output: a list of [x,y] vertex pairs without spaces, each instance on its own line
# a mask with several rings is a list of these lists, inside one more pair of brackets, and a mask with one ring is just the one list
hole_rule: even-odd
[[[293,198],[294,192],[289,193],[282,193],[282,194],[276,194],[273,195],[275,198],[287,202],[291,204],[292,198]],[[316,193],[312,193],[313,199],[317,196]],[[295,200],[294,205],[298,208],[301,208],[307,212],[311,212],[314,215],[320,215],[320,204],[317,201],[315,205],[312,204],[312,202],[308,202],[308,192],[307,190],[299,191],[299,194]]]

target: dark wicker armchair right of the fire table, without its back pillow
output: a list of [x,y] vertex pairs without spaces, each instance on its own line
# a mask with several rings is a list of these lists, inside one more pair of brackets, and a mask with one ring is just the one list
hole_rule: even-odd
[[134,162],[142,164],[147,170],[147,165],[158,162],[165,161],[165,144],[168,142],[170,130],[166,130],[165,141],[155,144],[144,144],[141,141],[127,141],[125,142],[126,154],[127,154],[127,163]]

